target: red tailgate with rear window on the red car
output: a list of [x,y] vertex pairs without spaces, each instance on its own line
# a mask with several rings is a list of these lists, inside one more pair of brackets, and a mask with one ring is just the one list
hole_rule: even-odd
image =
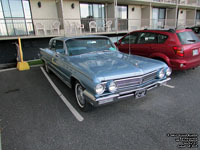
[[200,57],[200,39],[193,31],[178,32],[177,36],[184,50],[184,58]]

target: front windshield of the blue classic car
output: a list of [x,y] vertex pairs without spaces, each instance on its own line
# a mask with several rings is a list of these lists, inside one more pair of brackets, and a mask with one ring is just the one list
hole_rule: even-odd
[[116,51],[114,44],[107,38],[80,38],[66,41],[70,56],[98,51]]

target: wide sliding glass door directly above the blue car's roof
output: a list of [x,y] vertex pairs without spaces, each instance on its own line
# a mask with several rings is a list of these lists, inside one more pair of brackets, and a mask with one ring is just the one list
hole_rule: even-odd
[[105,22],[104,4],[81,3],[80,13],[81,13],[81,23],[84,24],[85,31],[89,31],[90,21],[95,21],[98,28],[103,27]]

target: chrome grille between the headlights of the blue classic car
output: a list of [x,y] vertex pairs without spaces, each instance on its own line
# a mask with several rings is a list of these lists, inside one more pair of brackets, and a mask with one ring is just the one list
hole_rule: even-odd
[[124,78],[124,79],[119,79],[115,80],[115,83],[118,87],[118,89],[121,88],[127,88],[127,87],[132,87],[132,86],[138,86],[142,83],[148,82],[150,80],[153,80],[156,78],[157,71],[153,71],[151,73],[148,73],[143,76],[137,76],[137,77],[131,77],[131,78]]

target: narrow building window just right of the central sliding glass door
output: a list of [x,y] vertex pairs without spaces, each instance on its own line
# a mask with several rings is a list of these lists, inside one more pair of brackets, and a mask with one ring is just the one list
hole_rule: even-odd
[[117,6],[118,30],[128,29],[128,6]]

